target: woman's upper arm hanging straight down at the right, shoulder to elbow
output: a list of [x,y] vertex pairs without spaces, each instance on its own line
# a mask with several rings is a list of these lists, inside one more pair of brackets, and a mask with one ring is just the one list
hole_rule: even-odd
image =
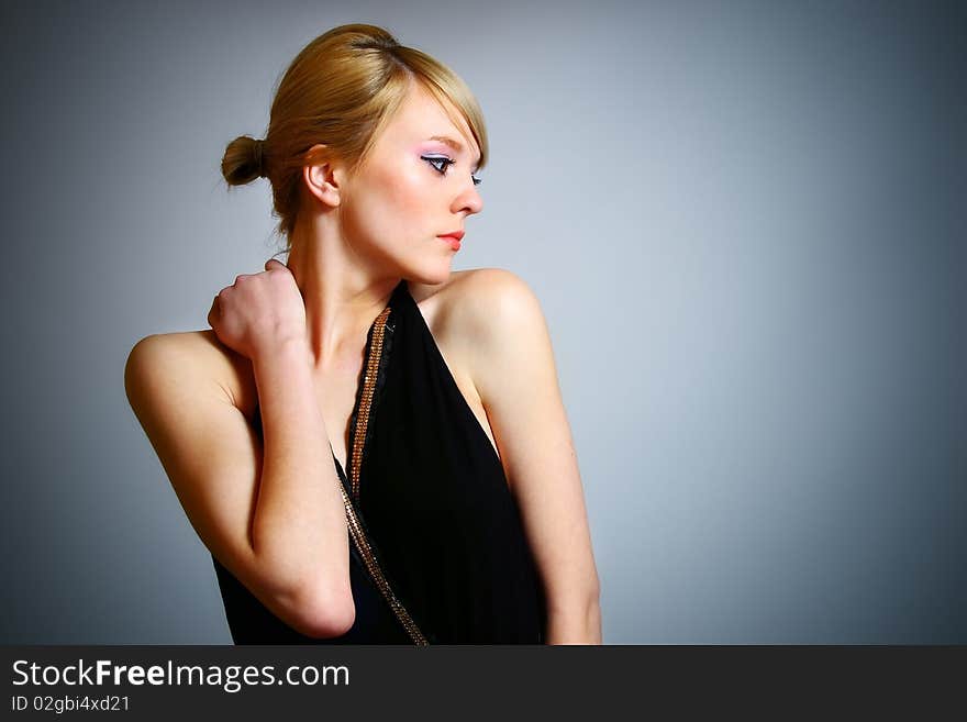
[[551,336],[527,285],[480,271],[467,293],[470,373],[521,510],[548,606],[598,595],[577,454]]

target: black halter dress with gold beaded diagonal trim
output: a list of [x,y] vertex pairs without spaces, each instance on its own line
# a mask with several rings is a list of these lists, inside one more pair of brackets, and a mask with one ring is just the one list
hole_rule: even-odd
[[544,598],[503,467],[405,280],[369,330],[348,469],[333,460],[355,623],[304,636],[212,557],[235,644],[543,643]]

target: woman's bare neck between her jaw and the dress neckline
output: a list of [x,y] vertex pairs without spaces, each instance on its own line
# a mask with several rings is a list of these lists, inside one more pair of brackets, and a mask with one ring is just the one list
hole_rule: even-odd
[[387,307],[399,277],[367,267],[340,229],[322,215],[297,224],[287,266],[305,304],[305,331],[315,370],[358,363],[366,334]]

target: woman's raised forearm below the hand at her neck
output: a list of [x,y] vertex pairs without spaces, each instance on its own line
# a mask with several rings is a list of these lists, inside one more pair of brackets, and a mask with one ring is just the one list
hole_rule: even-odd
[[264,442],[253,549],[286,588],[338,599],[348,590],[345,510],[308,351],[288,343],[253,369]]

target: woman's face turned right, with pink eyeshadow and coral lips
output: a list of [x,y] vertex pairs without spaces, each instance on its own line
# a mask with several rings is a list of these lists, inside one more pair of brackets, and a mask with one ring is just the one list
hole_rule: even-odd
[[[480,152],[453,114],[459,125],[415,84],[340,190],[340,221],[354,251],[415,282],[448,278],[457,249],[440,236],[465,231],[467,216],[484,207],[475,182]],[[469,234],[465,241],[473,242]]]

